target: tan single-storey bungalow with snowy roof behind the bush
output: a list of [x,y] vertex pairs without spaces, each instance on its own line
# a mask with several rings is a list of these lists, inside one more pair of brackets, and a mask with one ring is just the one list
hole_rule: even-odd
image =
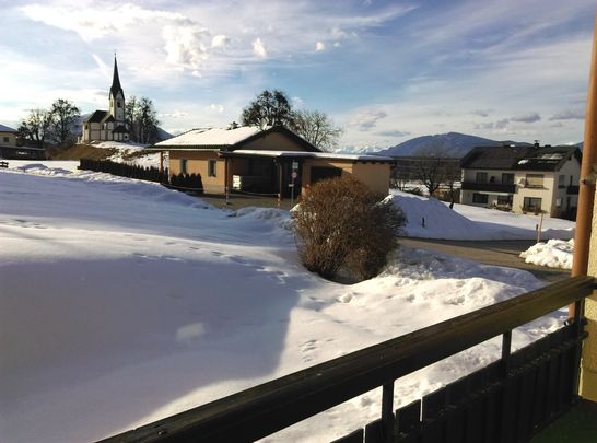
[[[352,176],[388,194],[391,158],[321,152],[283,127],[194,129],[149,148],[167,154],[168,176],[195,176],[207,194],[298,196],[317,180]],[[163,164],[162,167],[166,165]]]

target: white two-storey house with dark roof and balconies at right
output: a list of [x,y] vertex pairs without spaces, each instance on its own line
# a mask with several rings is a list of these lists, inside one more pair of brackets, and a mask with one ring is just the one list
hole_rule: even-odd
[[577,147],[478,147],[460,167],[465,205],[574,218],[581,174]]

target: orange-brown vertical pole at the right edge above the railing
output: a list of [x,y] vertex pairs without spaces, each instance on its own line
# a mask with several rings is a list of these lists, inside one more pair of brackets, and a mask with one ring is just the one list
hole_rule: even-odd
[[[581,184],[578,190],[578,209],[576,212],[576,233],[574,234],[574,255],[572,257],[572,277],[586,276],[590,231],[593,224],[593,205],[595,201],[595,178],[593,165],[597,150],[597,14],[593,33],[593,56],[588,80],[587,107],[585,114],[585,138],[583,162],[581,163]],[[574,305],[569,306],[570,317],[574,316]]]

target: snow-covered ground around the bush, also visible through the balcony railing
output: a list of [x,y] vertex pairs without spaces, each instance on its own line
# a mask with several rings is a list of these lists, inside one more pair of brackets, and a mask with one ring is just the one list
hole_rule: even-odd
[[[526,271],[406,247],[377,278],[332,283],[301,266],[288,211],[222,211],[77,162],[10,163],[0,171],[7,442],[98,440],[542,284]],[[520,218],[503,224],[497,211],[475,220],[435,200],[423,212],[424,202],[393,198],[412,218],[410,233],[420,232],[411,214],[422,213],[433,233],[442,232],[435,219],[450,235],[535,232]],[[552,222],[551,233],[572,232]],[[514,347],[564,318],[526,325]],[[401,378],[395,401],[499,354],[500,340],[490,340]],[[266,440],[333,440],[376,419],[379,398],[372,392]]]

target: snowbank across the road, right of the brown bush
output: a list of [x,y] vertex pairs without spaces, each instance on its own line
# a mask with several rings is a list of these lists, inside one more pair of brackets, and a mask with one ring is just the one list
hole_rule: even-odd
[[[409,220],[408,236],[443,240],[534,240],[537,238],[537,215],[447,203],[435,198],[391,190],[388,199],[402,208]],[[424,219],[424,226],[423,226]],[[574,222],[543,218],[541,238],[572,238]]]

